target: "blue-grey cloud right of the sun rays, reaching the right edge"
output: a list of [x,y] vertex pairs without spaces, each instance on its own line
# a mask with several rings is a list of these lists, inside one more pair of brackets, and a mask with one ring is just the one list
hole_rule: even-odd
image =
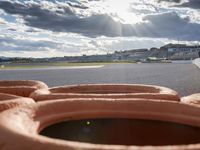
[[189,18],[181,18],[175,12],[148,15],[144,19],[148,22],[143,24],[146,26],[143,28],[152,31],[147,36],[191,41],[200,39],[200,24],[191,23]]

